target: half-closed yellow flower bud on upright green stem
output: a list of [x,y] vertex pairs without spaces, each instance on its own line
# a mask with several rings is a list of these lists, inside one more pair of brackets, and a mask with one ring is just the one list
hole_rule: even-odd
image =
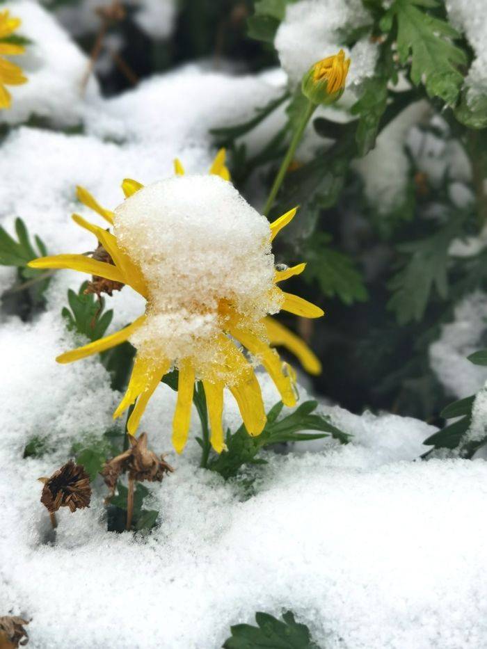
[[342,49],[310,67],[303,77],[301,89],[312,104],[333,104],[342,97],[350,59]]

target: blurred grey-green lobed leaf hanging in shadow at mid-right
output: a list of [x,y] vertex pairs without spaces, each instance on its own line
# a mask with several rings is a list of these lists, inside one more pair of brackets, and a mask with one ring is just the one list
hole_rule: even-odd
[[407,257],[388,284],[392,291],[388,309],[395,312],[399,324],[422,319],[433,288],[443,300],[447,297],[448,249],[460,227],[461,221],[454,219],[432,237],[398,246]]

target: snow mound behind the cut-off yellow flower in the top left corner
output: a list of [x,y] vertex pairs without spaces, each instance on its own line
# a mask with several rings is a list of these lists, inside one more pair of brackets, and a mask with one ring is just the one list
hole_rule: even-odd
[[[17,33],[32,43],[26,46],[25,54],[13,57],[29,81],[9,87],[13,104],[8,111],[1,111],[0,122],[19,124],[35,117],[61,127],[77,124],[81,118],[82,81],[88,58],[37,2],[13,1],[8,3],[8,9],[22,19]],[[97,93],[97,83],[92,77],[85,97],[93,99]]]

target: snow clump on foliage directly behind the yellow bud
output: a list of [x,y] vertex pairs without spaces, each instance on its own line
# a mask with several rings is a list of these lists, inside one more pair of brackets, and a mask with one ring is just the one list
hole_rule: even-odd
[[[343,47],[347,32],[371,22],[360,0],[301,0],[289,3],[274,45],[290,83],[296,86],[313,63],[336,54]],[[378,54],[374,43],[362,38],[351,49],[343,49],[351,58],[347,86],[372,76]]]

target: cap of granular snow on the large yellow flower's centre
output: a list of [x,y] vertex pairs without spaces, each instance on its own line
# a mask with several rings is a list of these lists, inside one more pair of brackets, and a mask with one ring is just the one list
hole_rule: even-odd
[[146,357],[196,355],[207,378],[223,303],[254,329],[280,309],[269,222],[221,177],[145,186],[115,209],[114,232],[147,278],[147,320],[132,339]]

